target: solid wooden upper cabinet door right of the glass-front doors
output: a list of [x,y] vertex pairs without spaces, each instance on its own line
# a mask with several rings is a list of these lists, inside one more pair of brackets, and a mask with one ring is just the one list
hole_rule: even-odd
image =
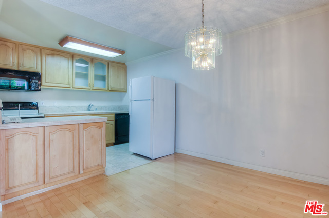
[[109,63],[109,90],[127,91],[127,66]]

